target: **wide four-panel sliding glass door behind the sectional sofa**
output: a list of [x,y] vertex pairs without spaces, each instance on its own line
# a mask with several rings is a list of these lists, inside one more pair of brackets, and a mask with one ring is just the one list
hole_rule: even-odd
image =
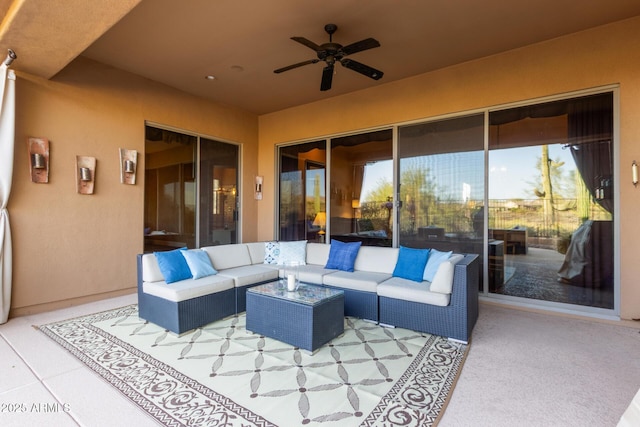
[[613,99],[281,147],[279,238],[477,254],[485,296],[614,310]]

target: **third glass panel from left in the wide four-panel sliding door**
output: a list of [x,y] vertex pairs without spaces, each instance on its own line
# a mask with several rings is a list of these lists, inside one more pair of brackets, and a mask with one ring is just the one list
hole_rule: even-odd
[[482,258],[484,114],[400,127],[398,156],[399,244]]

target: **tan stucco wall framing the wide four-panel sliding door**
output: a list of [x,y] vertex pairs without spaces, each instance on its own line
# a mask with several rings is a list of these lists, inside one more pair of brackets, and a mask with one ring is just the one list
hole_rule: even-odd
[[258,239],[274,236],[275,144],[619,84],[620,314],[640,318],[640,187],[631,185],[630,167],[640,161],[638,52],[640,18],[634,18],[261,116],[259,173],[265,184]]

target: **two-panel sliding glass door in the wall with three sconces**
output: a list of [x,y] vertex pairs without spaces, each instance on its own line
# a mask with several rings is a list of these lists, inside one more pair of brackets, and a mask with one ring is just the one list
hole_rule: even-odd
[[145,134],[144,251],[237,242],[239,147],[155,126]]

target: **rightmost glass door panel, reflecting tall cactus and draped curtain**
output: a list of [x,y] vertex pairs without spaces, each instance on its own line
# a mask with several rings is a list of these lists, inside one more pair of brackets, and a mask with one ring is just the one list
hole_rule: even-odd
[[489,117],[489,292],[613,309],[612,94]]

